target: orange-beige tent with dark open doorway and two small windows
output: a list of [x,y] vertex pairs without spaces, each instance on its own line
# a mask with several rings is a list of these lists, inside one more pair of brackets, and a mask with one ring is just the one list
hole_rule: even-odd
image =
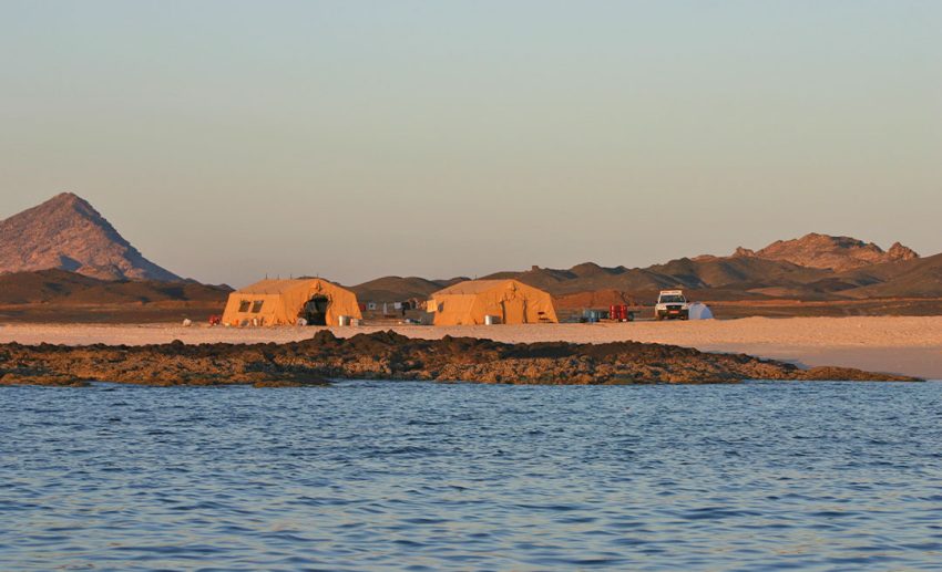
[[223,323],[337,325],[341,315],[362,318],[357,295],[320,279],[263,280],[229,294]]

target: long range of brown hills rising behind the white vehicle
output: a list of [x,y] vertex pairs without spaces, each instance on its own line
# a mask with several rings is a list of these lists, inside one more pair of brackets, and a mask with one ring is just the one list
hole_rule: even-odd
[[[922,259],[899,242],[884,251],[849,237],[807,235],[758,251],[682,258],[647,268],[533,267],[485,278],[515,278],[554,295],[615,291],[641,299],[679,288],[708,300],[828,301],[942,297],[942,256]],[[611,298],[611,297],[610,297]]]

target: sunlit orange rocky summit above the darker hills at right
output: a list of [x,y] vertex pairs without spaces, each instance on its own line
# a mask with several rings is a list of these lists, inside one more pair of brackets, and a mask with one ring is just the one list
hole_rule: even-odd
[[883,251],[873,242],[812,232],[793,240],[778,240],[758,251],[740,247],[733,257],[779,260],[800,267],[841,272],[884,262],[913,260],[919,258],[919,254],[899,242],[890,247],[890,250]]

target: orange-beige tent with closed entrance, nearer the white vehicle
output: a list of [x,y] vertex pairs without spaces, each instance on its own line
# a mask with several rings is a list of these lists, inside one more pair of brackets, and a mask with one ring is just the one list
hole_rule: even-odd
[[436,325],[483,324],[488,315],[502,324],[555,323],[553,297],[516,280],[469,280],[439,290],[428,309]]

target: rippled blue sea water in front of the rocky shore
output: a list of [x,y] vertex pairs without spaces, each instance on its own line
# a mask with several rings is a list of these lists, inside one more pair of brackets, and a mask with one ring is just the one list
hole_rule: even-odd
[[942,384],[0,387],[2,570],[940,570]]

